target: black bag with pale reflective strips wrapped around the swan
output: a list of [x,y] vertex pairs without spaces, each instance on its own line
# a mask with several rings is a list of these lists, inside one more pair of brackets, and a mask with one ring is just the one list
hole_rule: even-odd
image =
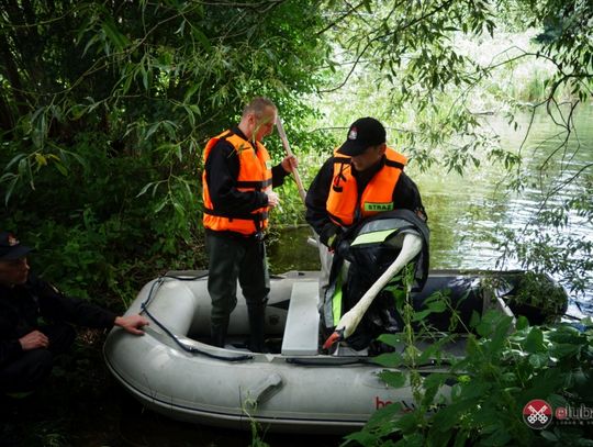
[[[322,317],[327,332],[348,312],[379,277],[396,259],[403,236],[419,235],[421,253],[410,262],[412,290],[419,291],[428,276],[429,230],[426,223],[409,210],[395,210],[365,220],[346,232],[334,254],[329,288],[325,295]],[[402,286],[401,275],[377,295],[348,344],[359,350],[380,334],[398,332],[402,321],[390,290]],[[337,301],[336,301],[337,300]],[[338,314],[336,314],[339,313]]]

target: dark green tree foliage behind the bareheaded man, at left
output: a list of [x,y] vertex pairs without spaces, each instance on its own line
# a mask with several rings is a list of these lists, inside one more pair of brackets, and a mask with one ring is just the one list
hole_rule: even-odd
[[303,2],[3,4],[0,227],[68,293],[127,300],[155,270],[204,266],[201,149],[251,97],[276,101],[292,141],[322,143],[302,94],[328,44]]

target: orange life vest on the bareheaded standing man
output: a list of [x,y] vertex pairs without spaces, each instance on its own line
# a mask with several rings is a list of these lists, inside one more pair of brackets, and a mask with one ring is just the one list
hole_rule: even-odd
[[[257,153],[251,143],[243,139],[231,131],[211,138],[204,148],[204,165],[210,152],[217,142],[224,139],[233,145],[239,161],[239,172],[235,188],[239,191],[264,191],[271,188],[271,159],[266,147],[257,142]],[[210,172],[215,176],[216,172]],[[250,213],[221,212],[216,210],[210,198],[206,172],[202,174],[202,198],[204,201],[203,223],[205,228],[231,231],[250,236],[268,226],[268,206],[251,211]]]

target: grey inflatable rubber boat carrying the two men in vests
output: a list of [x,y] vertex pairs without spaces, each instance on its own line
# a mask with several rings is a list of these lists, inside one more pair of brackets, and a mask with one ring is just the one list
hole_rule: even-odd
[[[518,295],[524,278],[522,271],[434,270],[423,291],[413,294],[414,308],[423,309],[428,297],[441,291],[468,326],[474,312],[488,309],[513,316],[507,303]],[[410,387],[385,385],[379,375],[387,368],[368,353],[340,343],[332,354],[322,354],[317,272],[290,271],[271,277],[270,283],[270,353],[244,347],[248,320],[240,294],[226,346],[211,346],[208,272],[175,271],[148,282],[127,310],[150,320],[144,336],[111,331],[104,345],[109,369],[148,409],[224,427],[248,428],[257,421],[278,432],[345,433],[360,428],[379,407],[414,404]],[[436,332],[449,328],[447,315],[427,319]],[[446,349],[461,356],[465,336],[459,334]],[[419,368],[428,373],[444,367],[429,361]]]

